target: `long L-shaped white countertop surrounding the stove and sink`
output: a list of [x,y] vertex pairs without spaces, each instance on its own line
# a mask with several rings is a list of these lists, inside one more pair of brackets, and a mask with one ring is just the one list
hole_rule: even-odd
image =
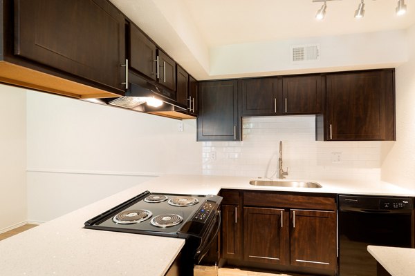
[[[216,195],[221,188],[415,195],[385,182],[317,181],[323,188],[249,185],[249,177],[166,175],[124,190],[0,242],[0,275],[165,275],[183,239],[84,229],[84,222],[131,197],[152,193]],[[293,179],[289,179],[292,181]]]

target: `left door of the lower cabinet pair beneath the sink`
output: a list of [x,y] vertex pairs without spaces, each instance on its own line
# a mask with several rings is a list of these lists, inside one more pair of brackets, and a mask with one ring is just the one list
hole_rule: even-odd
[[288,225],[284,223],[284,210],[244,207],[243,215],[245,260],[286,264]]

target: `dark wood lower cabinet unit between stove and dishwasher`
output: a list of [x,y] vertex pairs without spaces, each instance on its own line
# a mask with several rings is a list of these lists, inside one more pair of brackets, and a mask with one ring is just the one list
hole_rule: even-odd
[[220,264],[335,275],[334,196],[266,191],[222,191],[221,195],[227,204],[222,206]]

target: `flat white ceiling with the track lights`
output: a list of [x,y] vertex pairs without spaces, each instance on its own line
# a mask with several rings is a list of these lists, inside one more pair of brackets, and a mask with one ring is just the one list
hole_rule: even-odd
[[[396,0],[365,1],[365,17],[353,14],[360,0],[327,1],[326,17],[315,20],[322,2],[311,0],[184,0],[208,46],[320,37],[407,28],[412,13],[395,14]],[[406,1],[409,8],[411,1]]]

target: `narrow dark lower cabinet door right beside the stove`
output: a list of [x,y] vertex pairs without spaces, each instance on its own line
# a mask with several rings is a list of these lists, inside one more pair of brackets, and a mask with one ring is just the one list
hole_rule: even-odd
[[242,257],[241,210],[237,205],[222,206],[222,256],[225,259]]

